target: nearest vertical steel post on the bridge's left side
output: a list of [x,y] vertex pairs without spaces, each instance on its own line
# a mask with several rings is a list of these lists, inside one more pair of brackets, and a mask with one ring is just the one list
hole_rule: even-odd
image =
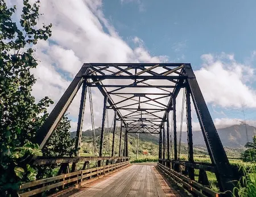
[[79,109],[79,119],[77,122],[77,130],[76,130],[76,156],[79,156],[79,148],[81,144],[82,139],[82,123],[84,122],[84,110],[85,110],[85,100],[86,100],[86,82],[82,84],[82,95],[81,95],[81,101],[80,101],[80,109]]

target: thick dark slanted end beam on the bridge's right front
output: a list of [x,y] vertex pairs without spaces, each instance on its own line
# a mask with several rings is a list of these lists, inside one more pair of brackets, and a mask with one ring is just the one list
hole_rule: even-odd
[[188,76],[188,84],[192,100],[203,132],[205,144],[207,145],[210,160],[213,165],[216,165],[216,177],[220,185],[220,190],[232,191],[234,187],[234,173],[230,167],[228,157],[226,156],[224,147],[212,121],[212,117],[210,117],[207,104],[204,101],[204,97],[200,91],[195,74],[189,65],[184,67],[184,72]]

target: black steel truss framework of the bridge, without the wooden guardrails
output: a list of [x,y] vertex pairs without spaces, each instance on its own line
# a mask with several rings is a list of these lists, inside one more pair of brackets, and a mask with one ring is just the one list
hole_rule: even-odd
[[[232,169],[189,63],[85,63],[52,110],[47,121],[39,129],[36,142],[40,144],[40,148],[46,145],[52,131],[59,124],[61,117],[81,86],[83,86],[83,95],[77,126],[76,148],[79,147],[81,140],[86,88],[97,87],[105,97],[100,156],[104,141],[106,110],[113,109],[115,121],[121,121],[122,131],[125,131],[123,156],[128,155],[127,132],[160,134],[159,161],[165,159],[166,152],[167,159],[170,159],[169,138],[167,138],[167,150],[165,149],[166,134],[169,135],[170,129],[170,125],[167,123],[167,120],[170,119],[168,117],[170,110],[173,110],[174,113],[174,159],[177,160],[176,97],[180,88],[185,88],[189,162],[193,166],[191,96],[212,165],[216,169],[220,189],[221,191],[232,189]],[[165,129],[166,125],[167,130]],[[121,144],[119,144],[119,156],[121,156],[121,152]],[[193,179],[193,170],[189,171],[189,177]]]

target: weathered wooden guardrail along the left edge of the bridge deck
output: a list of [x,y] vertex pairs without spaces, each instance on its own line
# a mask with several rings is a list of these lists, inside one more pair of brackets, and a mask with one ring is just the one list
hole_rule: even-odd
[[77,185],[78,187],[90,182],[93,178],[104,176],[105,174],[114,172],[117,169],[124,168],[130,161],[123,161],[116,164],[104,165],[97,168],[91,168],[86,170],[79,170],[68,174],[57,175],[56,177],[44,178],[37,181],[23,183],[20,185],[19,195],[32,196],[42,193],[44,191],[56,189],[71,183],[71,185]]

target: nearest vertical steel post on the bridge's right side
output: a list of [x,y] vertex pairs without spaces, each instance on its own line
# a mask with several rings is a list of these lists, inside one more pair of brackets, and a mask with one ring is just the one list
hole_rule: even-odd
[[[186,92],[186,106],[187,106],[187,134],[188,134],[188,161],[194,162],[193,159],[193,139],[192,139],[192,123],[191,123],[191,101],[190,101],[190,91],[189,87],[185,88]],[[195,179],[195,170],[193,168],[188,168],[189,178]]]

